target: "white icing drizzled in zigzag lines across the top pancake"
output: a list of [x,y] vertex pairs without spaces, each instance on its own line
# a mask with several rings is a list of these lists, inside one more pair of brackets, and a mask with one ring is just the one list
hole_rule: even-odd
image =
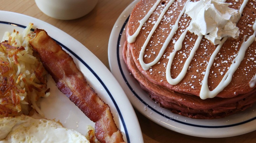
[[[141,64],[141,67],[143,68],[143,70],[148,70],[151,66],[155,65],[161,58],[161,56],[163,55],[163,52],[165,51],[166,47],[168,46],[168,43],[170,42],[170,40],[173,38],[174,34],[176,33],[177,29],[178,29],[178,24],[180,21],[181,16],[184,14],[185,8],[186,8],[186,4],[189,2],[190,0],[187,0],[184,8],[182,9],[177,21],[175,22],[175,25],[172,27],[172,30],[170,32],[170,34],[168,35],[167,39],[165,40],[158,56],[155,58],[154,61],[152,61],[151,63],[145,64],[143,61],[143,56],[144,56],[144,52],[145,52],[145,48],[151,38],[151,36],[153,35],[153,33],[155,32],[157,26],[159,25],[162,17],[164,16],[165,12],[168,10],[168,8],[172,5],[172,3],[174,2],[174,0],[170,0],[168,2],[168,4],[166,5],[166,7],[163,9],[163,11],[161,12],[156,24],[153,26],[152,30],[150,31],[145,43],[143,44],[140,54],[139,54],[139,62]],[[225,2],[226,0],[222,0],[222,2]],[[139,31],[141,30],[142,25],[148,20],[149,16],[153,13],[153,11],[156,9],[157,5],[160,3],[160,0],[158,0],[155,5],[149,10],[149,12],[146,14],[146,16],[139,21],[140,25],[139,28],[136,30],[136,32],[130,36],[128,35],[127,41],[129,43],[132,43],[135,41],[136,37],[139,34]],[[244,0],[239,11],[240,14],[243,13],[243,10],[246,6],[246,4],[248,3],[248,0]],[[189,26],[188,26],[189,27]],[[200,91],[200,98],[201,99],[206,99],[206,98],[213,98],[215,97],[218,93],[220,93],[228,84],[230,84],[231,80],[232,80],[232,76],[234,74],[234,72],[238,69],[240,63],[242,62],[242,60],[245,57],[245,52],[247,50],[247,48],[252,44],[252,42],[255,40],[256,37],[256,20],[253,24],[253,30],[254,33],[253,35],[251,35],[250,37],[248,37],[248,39],[245,41],[246,36],[244,37],[244,41],[239,49],[239,52],[237,54],[237,56],[233,59],[232,64],[230,65],[228,71],[225,73],[222,81],[219,83],[219,85],[213,89],[212,91],[209,90],[208,87],[208,76],[210,73],[210,68],[214,62],[215,57],[217,56],[217,54],[219,53],[222,45],[224,44],[224,42],[227,40],[228,37],[224,37],[223,40],[221,41],[221,43],[217,46],[217,48],[215,49],[215,51],[213,52],[213,54],[211,55],[208,65],[206,67],[206,71],[205,71],[205,75],[203,78],[203,82],[202,82],[202,87],[201,87],[201,91]],[[179,82],[181,82],[181,80],[184,78],[187,69],[191,63],[192,58],[195,55],[196,50],[198,49],[198,47],[200,46],[200,42],[203,38],[203,36],[198,36],[198,39],[195,42],[194,47],[192,48],[189,57],[187,58],[187,60],[184,63],[184,66],[180,72],[180,74],[173,79],[171,77],[171,73],[170,73],[170,69],[171,69],[171,65],[174,59],[174,56],[176,55],[177,51],[181,50],[182,48],[182,42],[185,39],[186,33],[188,31],[188,28],[185,29],[185,31],[181,34],[180,38],[176,41],[176,43],[174,44],[174,51],[170,53],[169,56],[169,61],[166,67],[166,79],[167,82],[171,85],[177,85]],[[254,78],[252,78],[252,80],[249,82],[250,87],[254,87],[256,84],[256,74],[254,76]]]

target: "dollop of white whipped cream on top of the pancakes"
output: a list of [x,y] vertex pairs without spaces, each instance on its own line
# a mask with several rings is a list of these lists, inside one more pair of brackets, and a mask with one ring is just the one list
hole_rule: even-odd
[[228,8],[228,3],[221,0],[200,0],[189,2],[185,14],[191,17],[188,30],[210,40],[214,45],[220,44],[223,37],[239,36],[236,23],[241,17],[239,10]]

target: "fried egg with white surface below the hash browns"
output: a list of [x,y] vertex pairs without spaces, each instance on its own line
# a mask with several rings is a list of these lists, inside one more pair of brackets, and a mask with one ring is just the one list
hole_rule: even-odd
[[0,119],[0,143],[7,142],[90,143],[84,135],[64,128],[58,121],[26,115]]

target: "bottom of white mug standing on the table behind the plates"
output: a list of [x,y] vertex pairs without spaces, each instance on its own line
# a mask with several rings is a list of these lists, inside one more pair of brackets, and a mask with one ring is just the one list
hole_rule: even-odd
[[37,7],[46,15],[71,20],[88,14],[98,0],[35,0]]

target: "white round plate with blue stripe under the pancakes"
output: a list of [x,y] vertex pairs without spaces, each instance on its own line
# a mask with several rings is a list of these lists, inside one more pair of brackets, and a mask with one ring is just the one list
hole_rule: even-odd
[[139,83],[127,71],[122,57],[125,41],[125,28],[133,7],[139,2],[135,0],[119,16],[110,35],[108,56],[112,73],[123,87],[132,105],[145,117],[155,123],[186,135],[199,137],[229,137],[242,135],[256,130],[256,105],[235,115],[222,119],[191,119],[173,114],[161,108],[149,98]]

